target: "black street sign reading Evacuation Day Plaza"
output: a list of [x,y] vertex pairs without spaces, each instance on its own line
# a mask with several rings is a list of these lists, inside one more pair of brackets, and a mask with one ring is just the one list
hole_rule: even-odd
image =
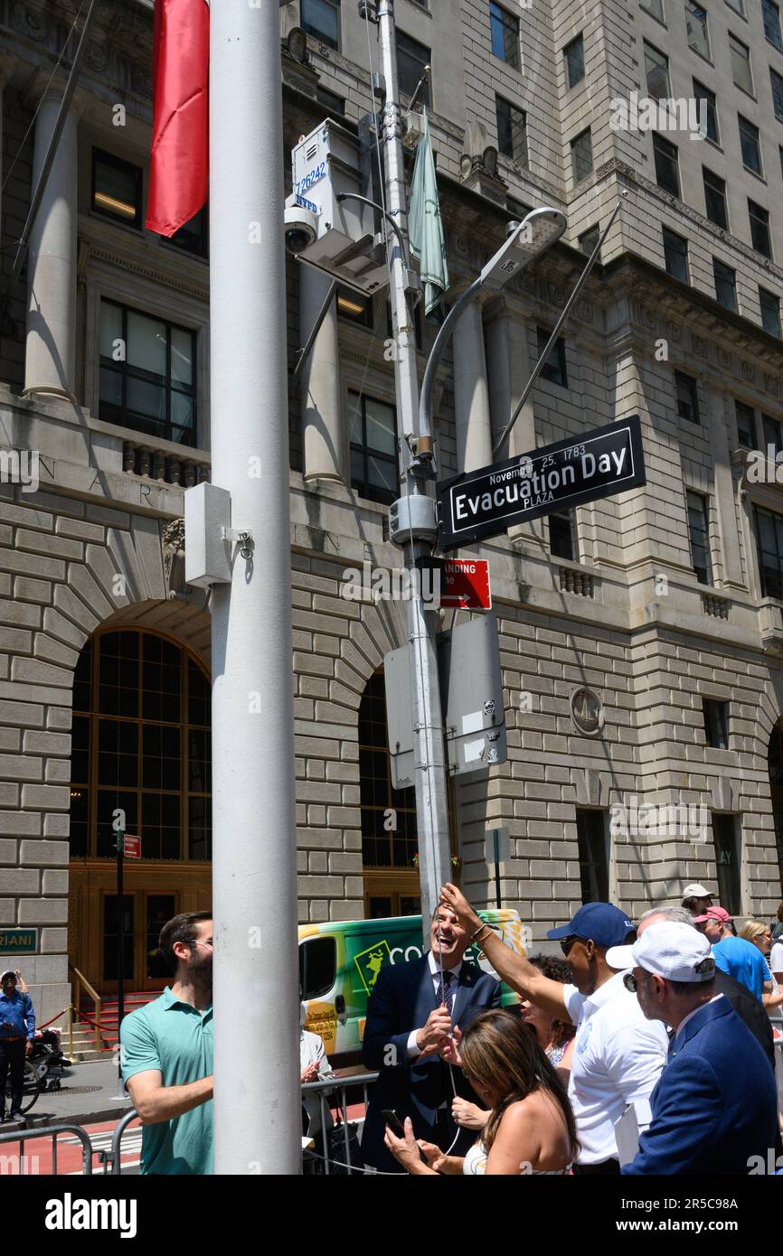
[[569,510],[646,484],[638,414],[506,462],[441,480],[441,551],[498,536],[553,510]]

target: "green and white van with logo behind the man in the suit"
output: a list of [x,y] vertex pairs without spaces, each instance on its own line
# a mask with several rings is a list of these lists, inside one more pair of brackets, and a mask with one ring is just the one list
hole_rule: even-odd
[[[479,916],[506,946],[525,955],[529,931],[517,912],[486,909]],[[332,1064],[339,1068],[361,1059],[367,1000],[381,968],[419,960],[424,951],[421,916],[299,926],[299,985],[307,1004],[304,1026],[320,1035]],[[469,947],[465,958],[493,972],[480,945]],[[504,985],[503,1006],[517,1002],[519,995]]]

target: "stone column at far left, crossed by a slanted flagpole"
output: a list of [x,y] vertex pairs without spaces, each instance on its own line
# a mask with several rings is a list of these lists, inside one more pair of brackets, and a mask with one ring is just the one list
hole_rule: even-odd
[[[35,119],[35,188],[54,131],[62,92],[45,89]],[[28,252],[28,337],[23,396],[75,401],[77,113],[68,112]]]

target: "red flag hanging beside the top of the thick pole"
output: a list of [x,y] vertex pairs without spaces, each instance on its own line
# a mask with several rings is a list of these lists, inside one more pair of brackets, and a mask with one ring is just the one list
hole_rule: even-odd
[[210,10],[155,0],[147,229],[172,236],[207,197]]

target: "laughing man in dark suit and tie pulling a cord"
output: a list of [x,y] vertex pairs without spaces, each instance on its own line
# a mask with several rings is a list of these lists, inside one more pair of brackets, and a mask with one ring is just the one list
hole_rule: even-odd
[[[380,1078],[370,1093],[362,1133],[367,1164],[405,1173],[383,1145],[383,1109],[393,1109],[402,1123],[410,1117],[416,1138],[446,1150],[457,1127],[451,1119],[454,1093],[479,1104],[461,1069],[452,1069],[439,1051],[452,1025],[466,1029],[479,1012],[500,1006],[500,982],[463,957],[470,946],[449,908],[439,907],[430,929],[432,950],[411,963],[381,968],[367,1004],[364,1066]],[[442,982],[441,982],[442,958]],[[460,1130],[454,1156],[464,1156],[475,1130]]]

